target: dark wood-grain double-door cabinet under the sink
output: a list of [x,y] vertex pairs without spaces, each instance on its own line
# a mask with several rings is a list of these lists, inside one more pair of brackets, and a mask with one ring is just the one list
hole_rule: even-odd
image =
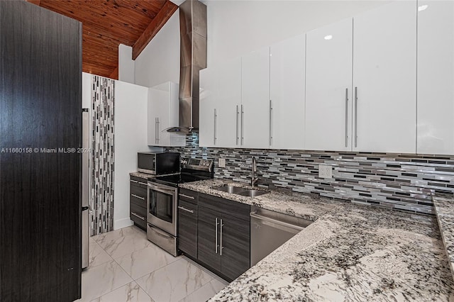
[[250,268],[249,213],[243,203],[199,195],[197,259],[228,281]]

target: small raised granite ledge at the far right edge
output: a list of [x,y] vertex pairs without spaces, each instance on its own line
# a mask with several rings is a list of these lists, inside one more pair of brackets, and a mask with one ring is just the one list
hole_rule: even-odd
[[454,196],[438,194],[433,196],[432,200],[450,269],[454,275]]

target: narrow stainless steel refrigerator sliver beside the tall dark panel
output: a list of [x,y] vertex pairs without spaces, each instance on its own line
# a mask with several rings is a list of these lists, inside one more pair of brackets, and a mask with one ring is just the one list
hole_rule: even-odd
[[90,113],[87,108],[82,109],[82,269],[89,264],[89,118]]

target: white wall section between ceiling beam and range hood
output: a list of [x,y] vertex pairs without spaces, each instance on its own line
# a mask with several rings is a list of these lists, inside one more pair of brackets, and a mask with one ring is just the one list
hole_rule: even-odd
[[179,83],[179,10],[135,59],[135,84]]

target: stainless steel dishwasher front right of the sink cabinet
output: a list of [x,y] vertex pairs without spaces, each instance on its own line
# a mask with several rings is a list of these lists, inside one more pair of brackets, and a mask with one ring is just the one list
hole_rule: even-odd
[[250,266],[280,247],[312,223],[311,220],[251,206]]

